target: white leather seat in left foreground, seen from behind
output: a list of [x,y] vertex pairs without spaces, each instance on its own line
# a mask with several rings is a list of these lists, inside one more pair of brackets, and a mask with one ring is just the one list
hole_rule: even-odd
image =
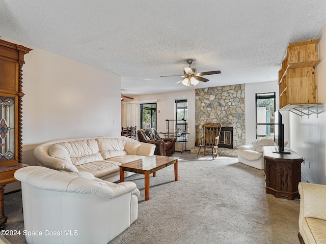
[[[18,169],[24,231],[31,243],[107,243],[138,218],[139,190],[89,172],[40,166]],[[30,235],[28,235],[30,233]]]

